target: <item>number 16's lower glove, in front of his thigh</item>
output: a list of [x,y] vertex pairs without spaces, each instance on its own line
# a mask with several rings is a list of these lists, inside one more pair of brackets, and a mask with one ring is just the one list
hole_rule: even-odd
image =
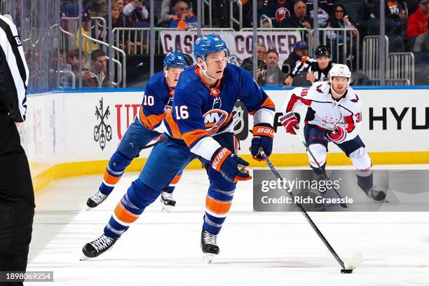
[[249,171],[245,170],[249,163],[233,154],[229,149],[220,147],[212,156],[212,168],[220,172],[228,182],[247,181],[252,179]]

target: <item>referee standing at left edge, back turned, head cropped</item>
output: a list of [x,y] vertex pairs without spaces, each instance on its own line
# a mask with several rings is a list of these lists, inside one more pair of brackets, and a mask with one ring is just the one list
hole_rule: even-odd
[[[32,178],[16,128],[25,121],[27,83],[18,30],[9,15],[0,15],[0,271],[7,272],[26,270],[32,239]],[[0,285],[22,282],[0,281]]]

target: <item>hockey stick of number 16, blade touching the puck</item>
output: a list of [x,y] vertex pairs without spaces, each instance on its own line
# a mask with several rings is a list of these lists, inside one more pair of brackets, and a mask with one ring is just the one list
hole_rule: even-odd
[[[273,172],[273,174],[275,175],[275,177],[277,177],[278,179],[282,179],[282,176],[280,176],[280,174],[278,173],[277,170],[275,170],[273,164],[271,163],[271,161],[268,159],[268,157],[266,156],[264,150],[262,148],[259,148],[259,154],[261,154],[262,158],[264,158],[266,165],[268,165],[268,167],[271,169],[271,172]],[[290,198],[292,198],[292,200],[294,200],[294,194],[292,193],[292,190],[287,189],[286,190],[287,194],[290,196]],[[329,252],[331,252],[332,256],[334,256],[334,258],[336,259],[336,261],[339,263],[339,265],[341,266],[341,273],[353,273],[353,269],[355,269],[357,266],[359,266],[359,264],[362,262],[362,254],[360,253],[356,253],[355,255],[353,255],[353,257],[351,257],[350,259],[348,259],[348,261],[346,261],[346,263],[344,263],[341,258],[338,256],[338,254],[336,254],[334,248],[332,248],[332,246],[329,244],[329,242],[327,241],[327,239],[325,238],[325,236],[323,236],[322,232],[318,229],[318,226],[315,225],[315,223],[313,222],[313,220],[311,219],[311,217],[308,215],[308,213],[306,212],[306,210],[304,210],[304,207],[300,204],[300,203],[295,203],[295,205],[297,205],[297,207],[299,208],[299,210],[301,210],[301,214],[304,215],[304,217],[306,218],[307,222],[311,225],[311,227],[313,228],[313,230],[315,231],[315,233],[318,234],[320,240],[322,240],[322,242],[325,244],[325,246],[327,247],[327,249],[329,250]]]

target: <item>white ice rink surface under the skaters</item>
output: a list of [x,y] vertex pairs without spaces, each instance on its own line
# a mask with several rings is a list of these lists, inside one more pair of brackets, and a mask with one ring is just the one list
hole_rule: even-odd
[[429,212],[311,212],[343,260],[363,255],[353,274],[341,274],[300,212],[252,212],[252,181],[238,183],[218,236],[220,254],[203,264],[200,231],[208,186],[203,170],[184,172],[172,212],[161,212],[157,200],[111,250],[79,261],[83,245],[102,234],[136,177],[125,173],[111,196],[90,211],[86,199],[97,191],[101,175],[60,179],[36,193],[27,271],[54,271],[54,282],[36,285],[429,286]]

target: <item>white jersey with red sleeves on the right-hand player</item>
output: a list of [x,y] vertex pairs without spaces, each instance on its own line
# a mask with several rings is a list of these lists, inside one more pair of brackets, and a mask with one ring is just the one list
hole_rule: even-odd
[[340,100],[334,100],[327,81],[316,81],[310,88],[294,88],[287,96],[283,113],[294,111],[298,104],[308,107],[306,124],[325,130],[334,130],[336,125],[343,126],[347,130],[346,141],[359,134],[362,109],[359,97],[350,86]]

